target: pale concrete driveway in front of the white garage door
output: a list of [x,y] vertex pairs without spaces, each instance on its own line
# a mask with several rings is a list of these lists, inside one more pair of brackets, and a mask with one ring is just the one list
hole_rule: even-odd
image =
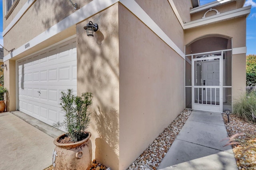
[[0,113],[0,169],[47,168],[52,164],[53,139],[61,133],[20,111]]

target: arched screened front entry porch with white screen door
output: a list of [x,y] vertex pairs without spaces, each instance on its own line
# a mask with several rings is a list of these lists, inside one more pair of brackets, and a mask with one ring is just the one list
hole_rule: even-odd
[[[187,109],[216,112],[231,110],[232,48],[230,42],[231,39],[223,37],[206,37],[186,46],[186,52],[190,52],[186,55],[185,62]],[[215,49],[217,51],[213,51]],[[195,53],[192,53],[194,51]]]

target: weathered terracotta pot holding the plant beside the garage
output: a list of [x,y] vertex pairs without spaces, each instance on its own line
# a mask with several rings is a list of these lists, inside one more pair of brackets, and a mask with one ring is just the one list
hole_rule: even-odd
[[56,145],[52,165],[54,170],[89,170],[92,162],[91,133],[82,141],[76,143],[62,144],[57,141],[65,136],[65,133],[54,139]]

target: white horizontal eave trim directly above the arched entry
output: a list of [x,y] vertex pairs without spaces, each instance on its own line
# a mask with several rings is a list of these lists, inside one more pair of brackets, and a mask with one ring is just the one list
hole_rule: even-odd
[[224,12],[218,15],[202,18],[199,20],[184,23],[184,29],[190,29],[190,28],[199,27],[202,25],[208,25],[210,23],[230,20],[232,18],[237,18],[239,16],[245,16],[245,15],[248,16],[248,14],[250,14],[250,11],[251,11],[251,6],[246,6],[244,8],[239,8],[239,9]]

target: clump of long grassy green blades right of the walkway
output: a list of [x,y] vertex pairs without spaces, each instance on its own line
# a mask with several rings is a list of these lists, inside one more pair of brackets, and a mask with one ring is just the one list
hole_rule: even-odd
[[256,91],[242,94],[234,103],[233,113],[245,121],[256,121]]

